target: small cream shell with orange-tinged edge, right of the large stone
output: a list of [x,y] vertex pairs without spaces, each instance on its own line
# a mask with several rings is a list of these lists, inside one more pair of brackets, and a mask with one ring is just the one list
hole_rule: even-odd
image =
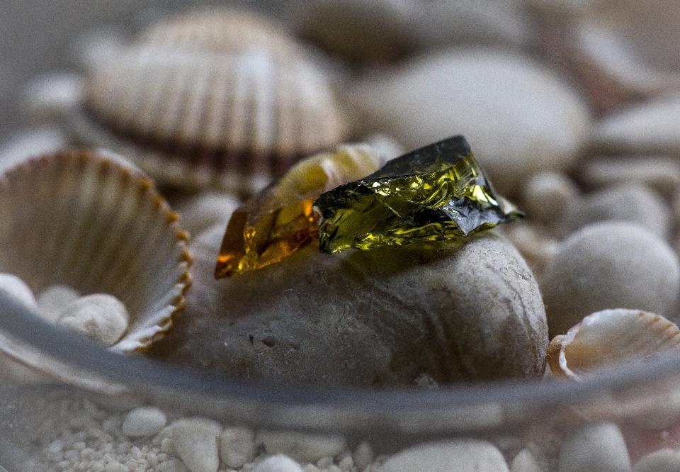
[[556,377],[579,379],[606,367],[680,349],[680,329],[663,316],[616,308],[585,317],[553,338],[548,364]]

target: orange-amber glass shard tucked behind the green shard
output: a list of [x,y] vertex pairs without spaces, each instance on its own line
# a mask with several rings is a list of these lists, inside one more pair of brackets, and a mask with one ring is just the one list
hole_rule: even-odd
[[366,145],[346,145],[304,159],[276,184],[234,211],[217,257],[215,277],[259,269],[319,240],[312,202],[324,191],[380,167]]

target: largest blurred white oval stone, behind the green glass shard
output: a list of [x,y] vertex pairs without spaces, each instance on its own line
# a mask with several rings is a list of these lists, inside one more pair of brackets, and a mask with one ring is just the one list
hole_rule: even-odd
[[388,133],[407,149],[465,135],[505,194],[537,172],[569,169],[589,137],[591,117],[581,97],[516,53],[436,52],[349,92],[364,133]]

